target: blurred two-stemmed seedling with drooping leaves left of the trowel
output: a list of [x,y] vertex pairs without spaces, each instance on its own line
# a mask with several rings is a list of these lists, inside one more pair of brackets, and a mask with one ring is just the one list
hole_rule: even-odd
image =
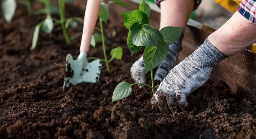
[[[78,34],[75,34],[74,36],[70,37],[68,34],[68,31],[67,31],[68,27],[69,26],[76,27],[77,26],[76,21],[83,23],[83,19],[80,17],[65,18],[64,0],[58,0],[58,4],[59,4],[58,10],[56,8],[53,8],[54,6],[50,6],[49,0],[40,0],[40,1],[43,2],[45,5],[45,13],[46,13],[47,17],[43,21],[39,22],[37,24],[37,26],[35,27],[33,39],[32,39],[32,46],[31,46],[30,50],[34,50],[36,48],[36,45],[38,43],[40,29],[46,33],[51,33],[53,27],[61,24],[61,28],[63,31],[63,35],[65,38],[66,44],[70,44],[72,39],[74,39],[80,35],[80,33],[78,33]],[[65,0],[65,2],[72,2],[72,0]],[[59,11],[60,19],[52,18],[51,13],[56,13],[56,11]],[[41,11],[37,12],[37,14],[41,14],[43,12],[44,12],[44,10],[41,10]]]

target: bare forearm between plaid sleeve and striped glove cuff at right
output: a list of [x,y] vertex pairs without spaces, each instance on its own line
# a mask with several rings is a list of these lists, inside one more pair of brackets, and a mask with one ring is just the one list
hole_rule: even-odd
[[208,39],[222,53],[232,56],[256,42],[256,25],[237,11]]

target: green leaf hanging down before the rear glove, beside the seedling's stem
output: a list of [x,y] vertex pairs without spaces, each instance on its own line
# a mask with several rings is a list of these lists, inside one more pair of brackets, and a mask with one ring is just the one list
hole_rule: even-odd
[[169,52],[169,45],[164,43],[164,47],[145,47],[143,53],[143,60],[146,69],[146,73],[150,70],[153,70],[157,67],[162,61],[164,61],[165,57]]

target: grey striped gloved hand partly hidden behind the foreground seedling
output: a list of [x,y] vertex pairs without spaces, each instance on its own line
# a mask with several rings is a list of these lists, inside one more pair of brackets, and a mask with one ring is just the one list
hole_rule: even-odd
[[[182,32],[181,36],[173,44],[169,45],[169,52],[164,61],[159,65],[155,73],[154,80],[159,80],[161,82],[168,72],[176,65],[179,53],[181,51],[183,36],[184,33]],[[134,62],[130,71],[133,82],[147,83],[143,55],[136,62]],[[142,87],[143,85],[139,84],[139,88]]]

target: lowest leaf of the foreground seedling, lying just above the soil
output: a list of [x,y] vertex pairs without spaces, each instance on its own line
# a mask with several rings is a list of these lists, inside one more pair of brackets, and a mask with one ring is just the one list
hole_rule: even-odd
[[120,82],[116,87],[112,95],[112,102],[118,101],[128,97],[132,92],[132,86],[134,85],[128,82]]

